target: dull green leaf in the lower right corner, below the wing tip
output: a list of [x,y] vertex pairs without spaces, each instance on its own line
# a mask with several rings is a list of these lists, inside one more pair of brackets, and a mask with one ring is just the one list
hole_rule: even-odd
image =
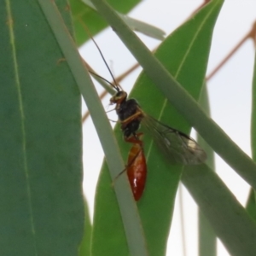
[[182,181],[232,256],[254,256],[256,224],[215,172],[186,166]]

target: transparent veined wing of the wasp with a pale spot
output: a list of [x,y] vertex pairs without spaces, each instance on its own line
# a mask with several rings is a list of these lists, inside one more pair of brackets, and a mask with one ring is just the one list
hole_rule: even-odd
[[142,125],[148,128],[154,142],[173,164],[198,165],[207,160],[207,154],[194,139],[147,114],[143,115]]

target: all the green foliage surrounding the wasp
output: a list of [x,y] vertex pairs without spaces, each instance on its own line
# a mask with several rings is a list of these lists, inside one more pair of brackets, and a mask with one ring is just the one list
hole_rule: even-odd
[[[125,166],[120,152],[126,159],[131,145],[123,142],[119,125],[114,131],[116,139],[113,136],[70,37],[71,10],[78,44],[86,40],[79,20],[85,19],[93,34],[112,26],[143,67],[131,92],[143,110],[186,133],[195,127],[208,145],[255,189],[253,161],[196,103],[205,88],[212,32],[224,1],[208,3],[168,35],[154,55],[107,3],[91,2],[98,13],[75,0],[71,1],[71,8],[62,0],[0,3],[1,254],[165,255],[177,185],[182,181],[207,218],[204,231],[218,236],[231,255],[253,256],[253,190],[246,211],[209,162],[171,168],[146,135],[143,141],[148,170],[154,171],[148,172],[142,200],[134,202],[125,175],[113,183]],[[110,3],[119,12],[128,12],[138,2]],[[153,31],[157,30],[152,27]],[[92,225],[82,196],[80,94],[90,109],[106,154]],[[154,99],[154,105],[148,99]],[[206,148],[207,154],[212,155],[212,149]],[[214,248],[214,235],[207,237],[203,243],[210,242]]]

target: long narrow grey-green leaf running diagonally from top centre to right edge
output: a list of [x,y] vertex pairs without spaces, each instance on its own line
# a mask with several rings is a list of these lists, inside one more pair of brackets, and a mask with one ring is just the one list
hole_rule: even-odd
[[[256,165],[236,143],[232,142],[220,127],[199,108],[198,103],[173,79],[172,75],[157,61],[143,43],[132,33],[128,27],[119,20],[108,4],[102,0],[93,0],[96,8],[108,19],[113,30],[123,40],[131,53],[141,64],[148,77],[158,85],[169,102],[183,114],[189,124],[206,140],[206,142],[219,154],[247,183],[256,189]],[[212,6],[212,11],[218,9],[223,0],[215,0],[206,6]],[[210,15],[210,14],[209,14]],[[206,17],[207,20],[207,17]],[[201,38],[203,40],[204,38]],[[134,47],[136,45],[136,47]],[[194,62],[195,64],[195,62]],[[196,67],[195,67],[196,69]],[[193,77],[188,77],[193,79]]]

